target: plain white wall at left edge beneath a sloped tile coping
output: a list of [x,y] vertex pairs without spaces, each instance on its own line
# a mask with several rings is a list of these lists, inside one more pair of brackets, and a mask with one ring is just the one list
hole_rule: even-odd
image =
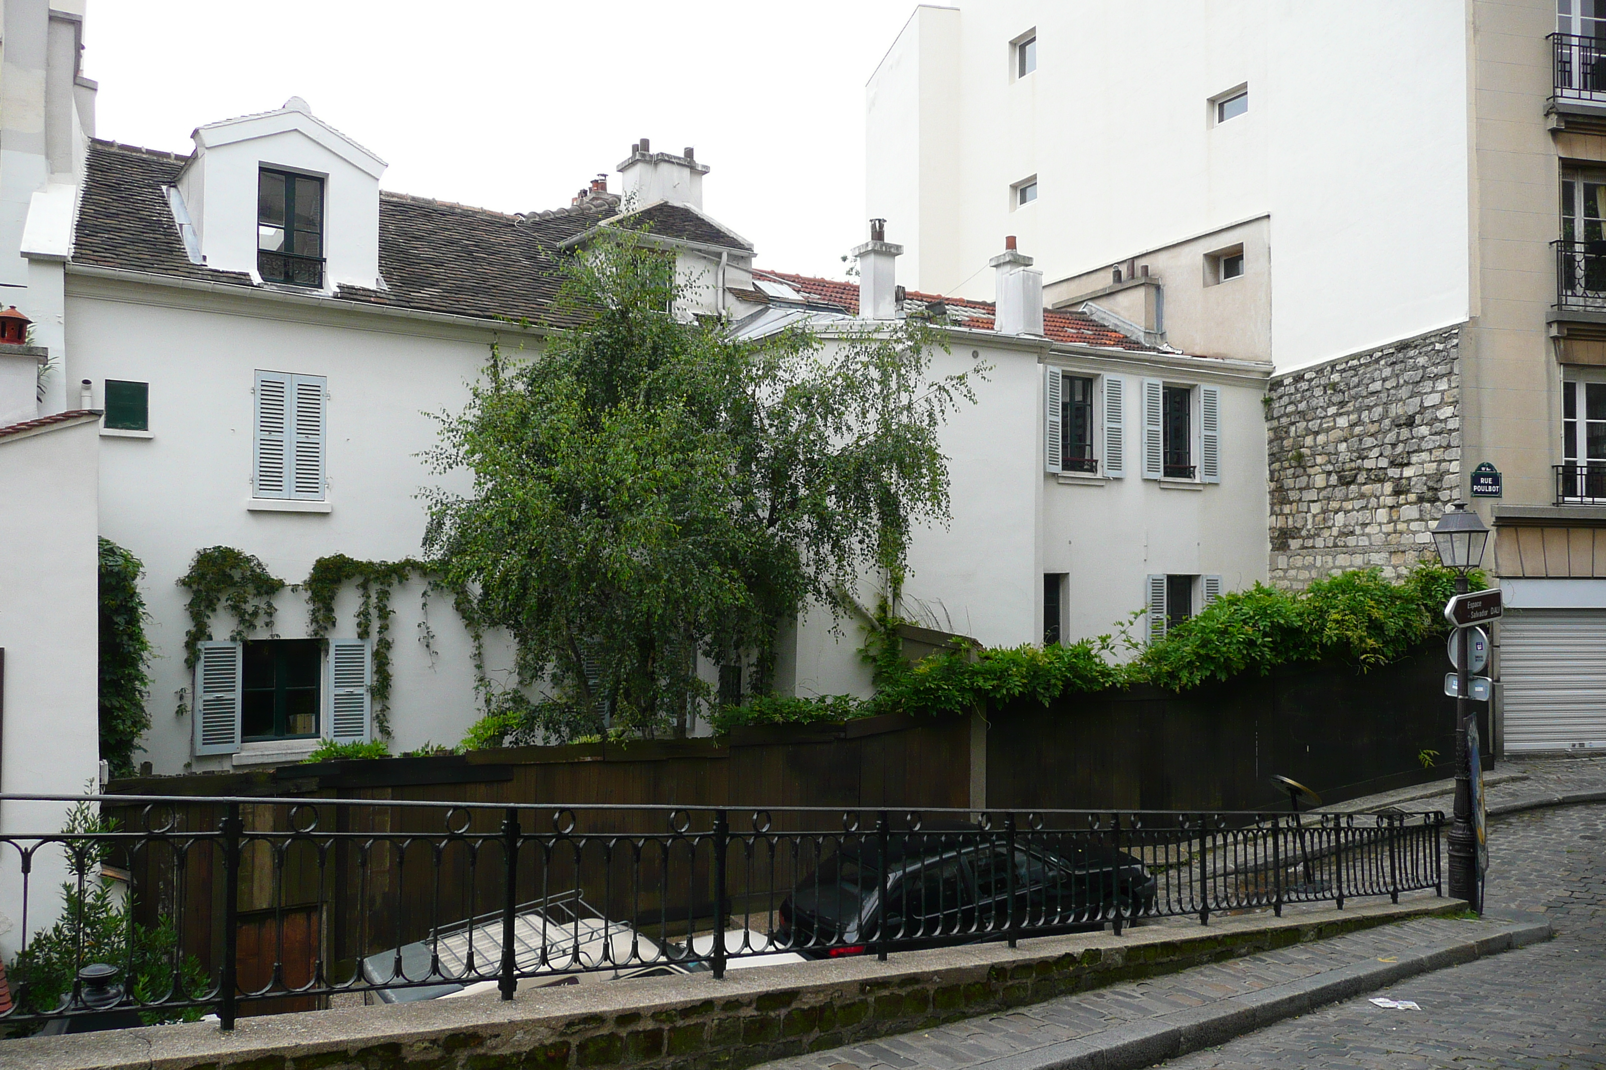
[[[82,794],[98,767],[98,468],[93,420],[0,438],[0,791]],[[61,829],[66,804],[0,804],[0,828]],[[56,918],[66,868],[34,861],[27,929]],[[22,926],[16,852],[0,852],[0,956]]]

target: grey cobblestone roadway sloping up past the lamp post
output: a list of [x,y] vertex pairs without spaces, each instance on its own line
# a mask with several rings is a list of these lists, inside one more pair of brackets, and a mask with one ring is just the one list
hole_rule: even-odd
[[[1588,775],[1587,765],[1595,765],[1571,762],[1577,765],[1545,770],[1547,776],[1575,781]],[[1556,780],[1542,786],[1572,789]],[[1606,805],[1494,818],[1490,855],[1486,910],[1542,913],[1556,927],[1555,940],[1376,993],[1413,999],[1421,1011],[1386,1011],[1365,998],[1351,999],[1163,1065],[1606,1067]]]

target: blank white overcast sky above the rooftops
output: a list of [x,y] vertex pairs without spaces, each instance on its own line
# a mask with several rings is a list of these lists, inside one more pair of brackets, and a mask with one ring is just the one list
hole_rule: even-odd
[[501,212],[567,205],[641,136],[695,146],[703,209],[763,266],[840,278],[864,83],[914,3],[90,0],[84,72],[101,138],[188,152],[297,95],[390,164],[385,189]]

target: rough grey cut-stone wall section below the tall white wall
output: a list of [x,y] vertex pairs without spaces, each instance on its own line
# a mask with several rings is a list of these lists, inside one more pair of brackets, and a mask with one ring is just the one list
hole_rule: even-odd
[[1270,579],[1402,574],[1461,484],[1460,327],[1272,379]]

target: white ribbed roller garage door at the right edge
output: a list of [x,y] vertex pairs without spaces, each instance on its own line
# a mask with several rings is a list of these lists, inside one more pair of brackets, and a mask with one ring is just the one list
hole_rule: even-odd
[[1500,624],[1506,751],[1606,748],[1606,610],[1522,610]]

